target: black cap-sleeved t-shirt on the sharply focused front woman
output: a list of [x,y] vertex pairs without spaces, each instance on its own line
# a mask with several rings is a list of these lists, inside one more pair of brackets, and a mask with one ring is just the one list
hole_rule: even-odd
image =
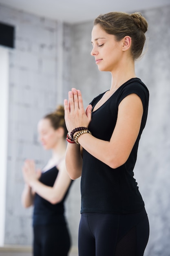
[[[113,169],[83,149],[81,213],[123,214],[135,213],[144,208],[144,201],[133,177],[133,169],[137,159],[139,139],[148,115],[149,92],[146,85],[138,78],[130,79],[121,85],[100,108],[92,112],[92,119],[88,129],[94,137],[110,141],[117,121],[119,103],[132,93],[141,98],[144,112],[139,135],[126,163]],[[93,99],[91,102],[93,108],[103,94]]]

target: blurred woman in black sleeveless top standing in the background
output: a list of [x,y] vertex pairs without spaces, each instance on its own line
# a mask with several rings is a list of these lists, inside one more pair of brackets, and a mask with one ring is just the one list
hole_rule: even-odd
[[25,187],[24,207],[33,210],[33,255],[67,256],[71,239],[64,217],[64,201],[72,180],[65,166],[66,134],[64,107],[58,108],[38,123],[42,146],[52,155],[42,170],[27,159],[22,168]]

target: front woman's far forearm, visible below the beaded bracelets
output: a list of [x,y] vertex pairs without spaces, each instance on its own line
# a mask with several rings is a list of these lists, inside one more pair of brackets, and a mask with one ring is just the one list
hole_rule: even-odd
[[77,144],[69,144],[66,149],[66,168],[68,175],[72,180],[82,175],[82,155],[80,146]]

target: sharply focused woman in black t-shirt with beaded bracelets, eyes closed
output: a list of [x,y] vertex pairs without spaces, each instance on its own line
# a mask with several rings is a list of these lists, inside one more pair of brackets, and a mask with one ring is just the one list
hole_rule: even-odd
[[133,169],[148,115],[149,92],[135,75],[148,24],[141,13],[95,19],[91,55],[112,74],[110,90],[84,110],[75,88],[64,100],[66,168],[81,177],[79,256],[143,256],[149,223]]

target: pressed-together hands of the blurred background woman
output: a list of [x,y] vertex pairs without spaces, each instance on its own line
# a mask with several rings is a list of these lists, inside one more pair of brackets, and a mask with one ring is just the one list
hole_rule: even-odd
[[24,182],[31,186],[31,183],[35,180],[38,180],[41,176],[41,170],[35,169],[35,162],[33,160],[27,159],[24,162],[24,166],[22,167],[22,174],[24,177]]

